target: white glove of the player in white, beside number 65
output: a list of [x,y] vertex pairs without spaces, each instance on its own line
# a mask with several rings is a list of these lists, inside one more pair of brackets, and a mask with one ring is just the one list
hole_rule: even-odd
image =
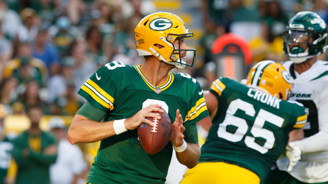
[[297,141],[290,142],[286,146],[286,156],[289,159],[289,166],[287,171],[291,171],[293,167],[298,163],[298,160],[301,159],[302,151],[297,144]]

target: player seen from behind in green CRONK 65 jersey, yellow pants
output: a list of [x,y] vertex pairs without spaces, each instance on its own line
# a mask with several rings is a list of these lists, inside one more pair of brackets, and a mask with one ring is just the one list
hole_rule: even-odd
[[306,121],[304,107],[286,101],[289,80],[281,64],[262,61],[250,70],[247,85],[230,78],[214,81],[204,91],[213,125],[199,164],[181,183],[263,183],[289,133]]

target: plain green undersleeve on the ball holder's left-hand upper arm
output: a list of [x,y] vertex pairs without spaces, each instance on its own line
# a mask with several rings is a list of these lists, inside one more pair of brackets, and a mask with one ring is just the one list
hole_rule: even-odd
[[86,102],[80,109],[78,109],[76,114],[84,116],[89,120],[100,122],[107,113],[93,106],[90,102]]

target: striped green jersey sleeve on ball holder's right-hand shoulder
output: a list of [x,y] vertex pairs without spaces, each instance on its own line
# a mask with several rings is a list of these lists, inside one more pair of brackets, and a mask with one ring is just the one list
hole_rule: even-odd
[[[183,75],[187,74],[181,74],[181,76]],[[196,124],[198,121],[209,116],[209,112],[203,97],[203,90],[201,89],[199,83],[194,78],[186,79],[186,82],[188,82],[188,84],[185,85],[187,92],[193,92],[190,96],[188,107],[189,110],[183,123],[184,126]]]

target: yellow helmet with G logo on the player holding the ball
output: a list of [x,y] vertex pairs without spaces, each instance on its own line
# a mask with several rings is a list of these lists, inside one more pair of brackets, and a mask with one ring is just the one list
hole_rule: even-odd
[[[173,13],[156,12],[142,18],[134,29],[135,44],[139,56],[155,56],[177,69],[193,66],[195,49],[180,49],[180,39],[194,36],[189,33],[185,22]],[[174,47],[174,40],[179,39],[179,47]],[[156,44],[162,47],[156,47]],[[180,51],[192,51],[194,56],[190,63],[181,59]]]

